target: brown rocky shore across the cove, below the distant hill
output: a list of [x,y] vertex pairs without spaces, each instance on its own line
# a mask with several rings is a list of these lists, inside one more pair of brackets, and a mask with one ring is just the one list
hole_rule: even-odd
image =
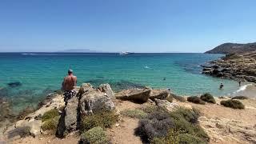
[[202,66],[202,74],[237,81],[256,82],[256,51],[226,54],[225,57]]

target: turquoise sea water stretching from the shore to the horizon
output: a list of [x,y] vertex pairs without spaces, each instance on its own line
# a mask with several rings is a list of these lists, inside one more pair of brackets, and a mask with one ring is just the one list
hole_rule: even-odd
[[[238,83],[201,74],[200,65],[220,54],[83,54],[0,53],[0,97],[13,103],[14,110],[35,105],[53,90],[60,89],[71,67],[78,85],[110,83],[114,90],[133,86],[170,88],[176,94],[210,92],[215,96],[238,90]],[[164,80],[164,78],[166,80]],[[20,82],[21,86],[8,86]],[[218,90],[220,83],[223,90]]]

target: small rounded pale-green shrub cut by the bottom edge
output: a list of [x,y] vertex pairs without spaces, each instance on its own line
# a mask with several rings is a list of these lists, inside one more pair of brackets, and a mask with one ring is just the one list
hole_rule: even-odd
[[97,126],[81,134],[81,140],[79,143],[95,143],[105,144],[109,139],[106,136],[105,131]]

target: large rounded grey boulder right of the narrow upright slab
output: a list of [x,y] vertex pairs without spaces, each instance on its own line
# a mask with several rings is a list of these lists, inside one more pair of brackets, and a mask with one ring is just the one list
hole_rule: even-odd
[[81,114],[90,114],[99,110],[114,110],[114,102],[106,93],[99,90],[91,90],[82,94],[79,109]]

